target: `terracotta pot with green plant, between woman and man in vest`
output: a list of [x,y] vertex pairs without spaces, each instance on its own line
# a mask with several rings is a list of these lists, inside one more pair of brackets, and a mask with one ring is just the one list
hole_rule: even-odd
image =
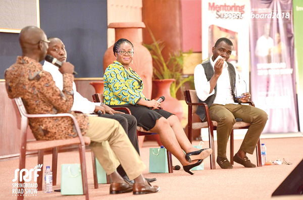
[[164,110],[175,114],[179,121],[182,120],[183,115],[183,107],[182,104],[178,101],[178,99],[174,98],[170,94],[170,86],[175,79],[163,79],[163,80],[154,80],[154,84],[157,88],[157,94],[154,99],[158,100],[160,96],[165,97],[165,101],[161,103],[161,106]]

